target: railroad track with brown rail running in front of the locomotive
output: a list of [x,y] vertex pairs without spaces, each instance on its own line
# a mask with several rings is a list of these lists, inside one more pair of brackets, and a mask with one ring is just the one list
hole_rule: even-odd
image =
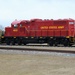
[[47,46],[7,46],[0,45],[0,49],[6,50],[25,50],[25,51],[43,51],[43,52],[60,52],[74,53],[75,47],[47,47]]

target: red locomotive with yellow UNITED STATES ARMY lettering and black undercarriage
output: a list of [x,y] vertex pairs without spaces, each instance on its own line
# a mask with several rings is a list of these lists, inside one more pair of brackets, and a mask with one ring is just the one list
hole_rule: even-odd
[[74,38],[75,21],[73,19],[31,19],[12,22],[11,27],[5,28],[1,42],[8,45],[48,43],[50,46],[58,44],[71,46],[75,43]]

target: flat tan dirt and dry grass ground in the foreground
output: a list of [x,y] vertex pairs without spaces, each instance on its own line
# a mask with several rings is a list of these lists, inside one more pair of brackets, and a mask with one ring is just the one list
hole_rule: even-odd
[[75,75],[75,57],[0,54],[0,75]]

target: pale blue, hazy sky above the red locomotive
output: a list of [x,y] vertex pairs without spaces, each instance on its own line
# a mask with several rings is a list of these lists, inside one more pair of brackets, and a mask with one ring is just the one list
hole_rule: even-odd
[[75,0],[0,0],[0,25],[33,18],[75,19]]

